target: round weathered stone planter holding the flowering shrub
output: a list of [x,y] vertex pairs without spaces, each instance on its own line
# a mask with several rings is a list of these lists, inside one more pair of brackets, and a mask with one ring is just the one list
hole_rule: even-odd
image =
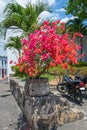
[[44,96],[49,94],[47,78],[31,78],[25,81],[25,93],[29,96]]

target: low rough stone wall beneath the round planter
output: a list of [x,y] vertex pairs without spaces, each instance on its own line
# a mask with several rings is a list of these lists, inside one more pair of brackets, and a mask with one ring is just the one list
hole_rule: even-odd
[[29,87],[18,78],[11,78],[10,88],[32,130],[57,130],[58,126],[83,118],[83,113],[71,109],[68,100],[49,92],[42,96],[30,96]]

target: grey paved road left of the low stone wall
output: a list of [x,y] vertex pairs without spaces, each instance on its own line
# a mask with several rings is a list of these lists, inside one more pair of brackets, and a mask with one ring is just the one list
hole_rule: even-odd
[[7,80],[0,80],[0,130],[29,130],[26,124]]

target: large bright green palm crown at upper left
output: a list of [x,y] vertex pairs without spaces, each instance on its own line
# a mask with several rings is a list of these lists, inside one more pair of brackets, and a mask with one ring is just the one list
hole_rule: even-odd
[[48,7],[43,2],[36,5],[28,3],[26,7],[22,7],[18,3],[9,3],[4,9],[4,20],[0,23],[0,31],[4,30],[4,35],[8,29],[21,29],[24,33],[30,33],[37,27],[37,17]]

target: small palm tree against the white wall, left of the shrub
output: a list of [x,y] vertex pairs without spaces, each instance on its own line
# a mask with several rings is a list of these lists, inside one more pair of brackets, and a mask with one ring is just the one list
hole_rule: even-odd
[[21,38],[16,36],[16,37],[10,37],[8,42],[5,44],[4,49],[6,50],[7,48],[14,48],[18,51],[18,56],[20,57],[21,54]]

